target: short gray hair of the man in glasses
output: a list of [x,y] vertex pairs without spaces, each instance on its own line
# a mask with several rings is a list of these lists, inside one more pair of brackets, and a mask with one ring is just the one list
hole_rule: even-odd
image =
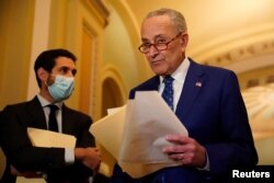
[[158,16],[158,15],[168,15],[170,18],[171,22],[174,24],[178,33],[187,31],[185,19],[183,16],[183,14],[176,10],[173,10],[173,9],[162,8],[159,10],[151,11],[144,19],[142,23],[147,19],[152,18],[152,16]]

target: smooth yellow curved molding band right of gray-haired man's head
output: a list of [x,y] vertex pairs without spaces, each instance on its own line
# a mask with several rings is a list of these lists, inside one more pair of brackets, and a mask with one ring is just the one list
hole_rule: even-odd
[[[198,47],[193,47],[189,54],[197,60],[210,64],[212,60],[227,58],[242,48],[255,44],[272,44],[274,37],[274,23],[264,24],[258,27],[228,33],[221,37],[213,38],[210,42],[203,43]],[[271,43],[272,42],[272,43]],[[256,48],[258,49],[258,48]],[[242,52],[242,50],[241,50]],[[219,58],[220,57],[220,58]]]

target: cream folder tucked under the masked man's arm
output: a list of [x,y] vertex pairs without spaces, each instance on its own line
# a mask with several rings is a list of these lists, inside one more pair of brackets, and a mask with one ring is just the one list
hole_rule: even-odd
[[75,148],[76,137],[38,128],[27,128],[27,135],[36,147]]

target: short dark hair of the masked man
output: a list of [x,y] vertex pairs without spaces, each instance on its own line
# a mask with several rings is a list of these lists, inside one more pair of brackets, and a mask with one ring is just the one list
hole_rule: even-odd
[[41,80],[37,76],[37,70],[42,67],[49,73],[52,72],[53,68],[56,65],[56,58],[58,57],[67,57],[72,59],[75,62],[77,60],[77,57],[70,53],[67,49],[48,49],[39,54],[39,56],[36,58],[35,64],[34,64],[34,71],[36,76],[36,81],[38,83],[38,87],[42,87]]

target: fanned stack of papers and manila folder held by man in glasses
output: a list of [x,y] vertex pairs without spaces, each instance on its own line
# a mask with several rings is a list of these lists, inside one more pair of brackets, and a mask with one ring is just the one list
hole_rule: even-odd
[[169,145],[164,137],[187,136],[183,124],[156,91],[137,92],[135,100],[94,123],[91,133],[133,178],[179,165],[162,152],[162,147]]

